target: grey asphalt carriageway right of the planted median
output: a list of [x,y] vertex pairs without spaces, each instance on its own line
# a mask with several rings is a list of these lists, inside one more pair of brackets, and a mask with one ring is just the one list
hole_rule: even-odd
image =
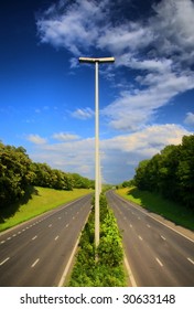
[[168,227],[114,191],[108,203],[122,231],[123,247],[139,287],[193,287],[194,241]]

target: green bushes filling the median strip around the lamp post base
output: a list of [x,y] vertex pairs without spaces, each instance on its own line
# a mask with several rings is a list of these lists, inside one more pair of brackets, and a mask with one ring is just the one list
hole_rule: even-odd
[[114,213],[107,205],[104,194],[100,195],[100,243],[94,245],[95,212],[82,233],[79,251],[68,286],[72,287],[122,287],[126,277],[122,266],[122,246]]

